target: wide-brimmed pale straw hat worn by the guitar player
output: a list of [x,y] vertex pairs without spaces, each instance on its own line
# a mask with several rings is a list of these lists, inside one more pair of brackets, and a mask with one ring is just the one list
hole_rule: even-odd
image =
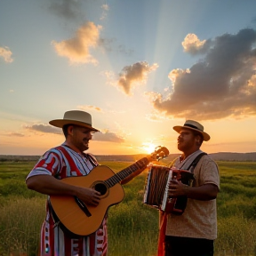
[[92,116],[81,110],[70,110],[65,112],[63,119],[54,119],[49,122],[55,127],[62,128],[65,124],[76,124],[91,129],[92,131],[99,132],[99,130],[92,127]]

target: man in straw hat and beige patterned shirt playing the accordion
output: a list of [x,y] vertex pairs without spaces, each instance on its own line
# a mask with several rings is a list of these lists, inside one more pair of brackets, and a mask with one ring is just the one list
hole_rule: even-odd
[[[178,149],[183,154],[170,167],[193,172],[195,180],[192,186],[173,179],[169,183],[168,196],[187,196],[188,202],[182,214],[160,211],[158,255],[212,256],[217,238],[216,197],[220,176],[217,164],[200,150],[210,136],[202,124],[193,120],[174,126],[173,130],[179,133]],[[193,162],[199,155],[204,156],[195,166]]]

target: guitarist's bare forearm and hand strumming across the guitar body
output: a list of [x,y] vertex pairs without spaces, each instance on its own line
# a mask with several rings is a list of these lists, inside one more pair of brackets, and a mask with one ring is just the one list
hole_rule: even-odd
[[85,204],[98,205],[100,192],[92,188],[76,187],[61,182],[51,175],[36,175],[26,180],[27,187],[44,195],[77,196]]

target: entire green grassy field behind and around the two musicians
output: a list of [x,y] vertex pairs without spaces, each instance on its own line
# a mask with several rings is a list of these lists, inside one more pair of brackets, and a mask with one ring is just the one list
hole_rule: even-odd
[[[0,162],[0,255],[35,255],[45,196],[26,188],[33,162]],[[132,163],[104,162],[114,172]],[[220,194],[215,255],[256,255],[256,163],[218,162]],[[109,208],[110,256],[156,255],[158,212],[142,204],[147,172],[124,186],[121,204]]]

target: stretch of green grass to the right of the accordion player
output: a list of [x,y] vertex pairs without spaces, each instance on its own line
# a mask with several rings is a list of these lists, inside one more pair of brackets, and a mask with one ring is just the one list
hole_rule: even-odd
[[217,255],[256,255],[256,163],[219,162]]

